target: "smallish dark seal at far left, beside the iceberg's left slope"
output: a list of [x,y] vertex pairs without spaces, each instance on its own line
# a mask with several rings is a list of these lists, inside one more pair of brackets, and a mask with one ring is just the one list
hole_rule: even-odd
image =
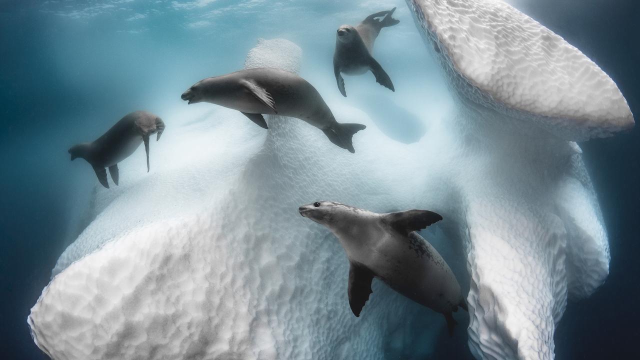
[[147,151],[147,172],[149,171],[149,136],[157,133],[156,141],[164,131],[164,122],[147,111],[134,111],[125,115],[104,135],[94,142],[79,143],[69,149],[71,160],[83,158],[95,170],[100,184],[109,188],[107,171],[118,184],[118,163],[133,154],[141,143]]

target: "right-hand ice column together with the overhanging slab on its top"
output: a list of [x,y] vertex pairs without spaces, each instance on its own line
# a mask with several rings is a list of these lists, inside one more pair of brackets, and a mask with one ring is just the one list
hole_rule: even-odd
[[[458,102],[452,133],[467,244],[469,346],[479,359],[552,359],[566,300],[609,272],[577,144],[634,126],[613,81],[502,1],[407,0]],[[564,139],[564,140],[563,140]]]

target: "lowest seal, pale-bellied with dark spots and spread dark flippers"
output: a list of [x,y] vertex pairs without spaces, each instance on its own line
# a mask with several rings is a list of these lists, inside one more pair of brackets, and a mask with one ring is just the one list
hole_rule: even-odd
[[338,202],[301,206],[300,215],[328,227],[349,259],[349,306],[353,315],[372,293],[377,277],[390,288],[423,306],[442,313],[452,335],[452,312],[467,310],[460,284],[442,256],[416,231],[442,217],[433,211],[408,210],[378,214]]

